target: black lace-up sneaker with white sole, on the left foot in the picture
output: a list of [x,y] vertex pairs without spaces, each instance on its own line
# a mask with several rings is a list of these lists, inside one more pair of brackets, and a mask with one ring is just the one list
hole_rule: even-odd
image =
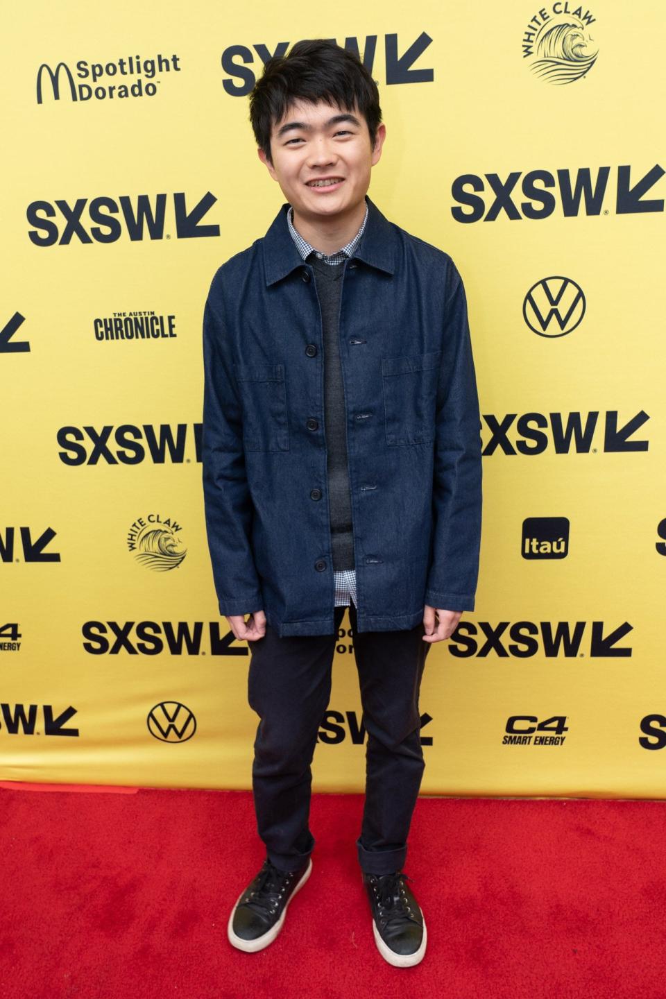
[[253,953],[276,939],[287,915],[287,907],[313,869],[312,858],[297,871],[281,871],[267,859],[257,877],[241,892],[227,926],[230,943]]

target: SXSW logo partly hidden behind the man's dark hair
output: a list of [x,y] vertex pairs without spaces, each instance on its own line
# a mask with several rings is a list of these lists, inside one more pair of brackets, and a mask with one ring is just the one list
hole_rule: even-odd
[[[359,40],[354,36],[345,38],[342,48],[354,52],[371,73],[378,38],[378,35],[367,35],[364,39],[362,54],[358,44]],[[405,46],[398,45],[397,35],[384,35],[385,82],[389,85],[391,83],[431,83],[434,79],[432,69],[413,68],[413,64],[431,42],[432,39],[424,31],[421,31],[418,38],[411,44],[405,43]],[[289,47],[289,42],[279,42],[275,47],[270,47],[264,43],[253,45],[252,48],[247,45],[230,45],[222,53],[222,68],[228,74],[222,81],[226,92],[232,97],[247,97],[257,82],[257,76],[261,75],[264,65],[269,59],[286,55]],[[401,55],[398,54],[400,48],[403,49]],[[259,57],[259,65],[257,65],[256,57]]]

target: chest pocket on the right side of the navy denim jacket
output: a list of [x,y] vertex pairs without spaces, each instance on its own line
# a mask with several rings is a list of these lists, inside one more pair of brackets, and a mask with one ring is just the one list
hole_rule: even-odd
[[440,362],[441,351],[381,359],[386,444],[434,441]]

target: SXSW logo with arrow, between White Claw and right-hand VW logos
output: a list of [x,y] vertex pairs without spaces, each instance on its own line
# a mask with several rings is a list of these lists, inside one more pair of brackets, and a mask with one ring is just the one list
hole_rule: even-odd
[[589,167],[580,167],[575,174],[557,170],[557,179],[549,170],[530,170],[524,175],[515,170],[505,178],[499,174],[461,174],[451,185],[458,203],[451,208],[451,215],[462,223],[495,222],[500,216],[517,222],[547,219],[558,206],[565,219],[602,212],[608,215],[609,210],[604,209],[607,191],[616,215],[664,211],[663,198],[644,197],[666,173],[658,163],[638,178],[635,171],[632,178],[631,166],[618,167],[612,189],[610,171],[610,167],[598,167],[593,175]]

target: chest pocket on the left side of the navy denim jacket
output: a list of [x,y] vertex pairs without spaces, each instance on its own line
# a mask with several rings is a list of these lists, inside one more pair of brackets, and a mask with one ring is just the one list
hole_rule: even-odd
[[284,365],[234,365],[247,451],[289,451]]

